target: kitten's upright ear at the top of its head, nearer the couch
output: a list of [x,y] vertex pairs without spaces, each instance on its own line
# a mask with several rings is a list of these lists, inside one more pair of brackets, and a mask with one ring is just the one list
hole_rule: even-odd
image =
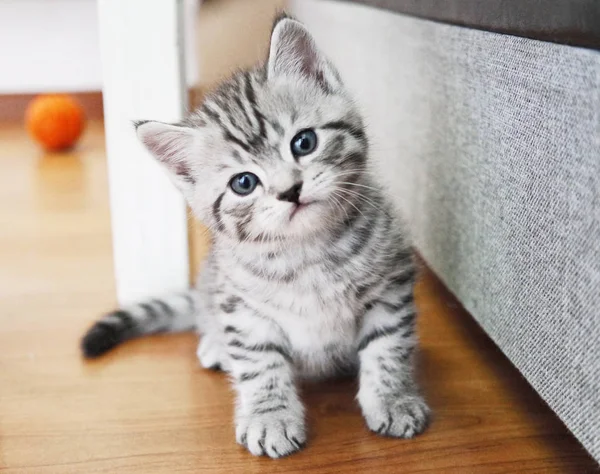
[[267,61],[267,78],[279,76],[308,79],[326,92],[341,86],[338,72],[318,50],[308,30],[287,16],[275,21]]

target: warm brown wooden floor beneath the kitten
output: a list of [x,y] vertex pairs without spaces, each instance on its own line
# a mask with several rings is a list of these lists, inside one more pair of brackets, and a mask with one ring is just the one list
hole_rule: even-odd
[[421,377],[435,412],[410,441],[369,433],[351,382],[304,388],[307,449],[279,461],[234,442],[224,376],[196,338],[129,343],[84,362],[78,340],[113,305],[101,124],[43,156],[0,126],[0,471],[7,473],[573,473],[595,464],[429,273]]

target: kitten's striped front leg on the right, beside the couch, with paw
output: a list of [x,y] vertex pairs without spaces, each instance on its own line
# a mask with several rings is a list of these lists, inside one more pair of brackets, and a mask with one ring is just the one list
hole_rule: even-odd
[[415,316],[412,284],[398,280],[367,304],[359,331],[358,401],[368,427],[384,436],[412,438],[429,420],[413,373]]

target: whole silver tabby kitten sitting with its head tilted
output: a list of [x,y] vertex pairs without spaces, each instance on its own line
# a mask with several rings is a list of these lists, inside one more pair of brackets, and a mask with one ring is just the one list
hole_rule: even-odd
[[358,373],[371,430],[421,432],[411,252],[367,172],[360,115],[304,26],[276,21],[266,64],[182,123],[136,126],[213,245],[197,288],[106,315],[84,353],[197,327],[200,363],[232,376],[236,439],[255,455],[304,446],[301,378]]

